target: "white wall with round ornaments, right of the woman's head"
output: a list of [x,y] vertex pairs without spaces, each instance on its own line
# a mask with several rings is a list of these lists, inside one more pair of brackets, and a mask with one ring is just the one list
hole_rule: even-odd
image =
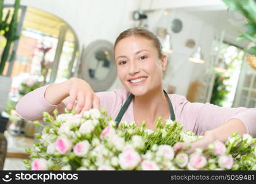
[[[175,86],[175,93],[186,96],[190,83],[196,79],[202,79],[206,74],[214,37],[214,28],[199,18],[180,10],[169,10],[167,15],[163,13],[159,15],[158,12],[152,12],[148,13],[148,18],[148,27],[151,31],[156,33],[158,27],[167,28],[167,31],[172,36],[171,42],[174,53],[167,55],[169,66],[167,67],[167,75],[164,80],[165,85]],[[173,33],[170,29],[174,18],[182,20],[183,28],[180,33]],[[186,47],[187,39],[194,39],[196,46],[194,48]],[[188,57],[198,45],[202,47],[202,53],[206,60],[205,64],[188,61]]]

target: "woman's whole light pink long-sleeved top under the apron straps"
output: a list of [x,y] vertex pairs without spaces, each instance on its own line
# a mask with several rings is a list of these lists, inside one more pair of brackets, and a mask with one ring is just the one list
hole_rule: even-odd
[[[26,94],[18,104],[16,110],[20,117],[26,120],[42,120],[42,112],[52,112],[57,108],[59,113],[63,113],[68,102],[64,99],[58,105],[49,104],[44,98],[47,86],[42,86]],[[113,120],[118,116],[118,112],[129,96],[129,92],[124,89],[105,91],[96,93],[100,98],[100,106],[106,109],[108,116]],[[226,108],[218,107],[214,104],[191,103],[184,96],[179,94],[168,94],[174,107],[176,120],[183,123],[185,130],[192,130],[196,134],[202,135],[210,129],[217,128],[226,121],[236,118],[244,122],[247,133],[256,136],[256,109],[245,107]],[[130,103],[121,121],[134,121],[133,102]]]

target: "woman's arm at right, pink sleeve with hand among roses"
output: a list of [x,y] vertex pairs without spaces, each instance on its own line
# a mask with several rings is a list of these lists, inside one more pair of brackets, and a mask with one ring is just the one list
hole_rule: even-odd
[[[226,142],[234,131],[241,135],[256,136],[255,108],[226,108],[209,103],[191,103],[177,94],[174,101],[177,121],[183,123],[185,130],[204,135],[201,140],[191,144],[190,151],[196,147],[206,147],[215,140]],[[186,148],[187,145],[178,143],[175,150]]]

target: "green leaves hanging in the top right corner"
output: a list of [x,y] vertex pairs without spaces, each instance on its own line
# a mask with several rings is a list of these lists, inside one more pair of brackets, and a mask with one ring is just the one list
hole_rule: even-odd
[[[236,40],[249,40],[256,44],[256,1],[255,0],[222,0],[231,10],[238,11],[247,18],[246,32],[239,35]],[[256,55],[256,47],[244,49],[250,55]]]

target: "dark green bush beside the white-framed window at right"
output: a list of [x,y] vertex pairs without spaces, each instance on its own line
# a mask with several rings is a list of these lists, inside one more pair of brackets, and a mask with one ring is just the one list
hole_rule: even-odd
[[217,73],[214,80],[214,89],[212,90],[212,98],[210,99],[211,104],[222,106],[223,101],[226,99],[228,90],[226,90],[227,85],[224,81],[230,79],[230,77],[224,77],[223,74]]

